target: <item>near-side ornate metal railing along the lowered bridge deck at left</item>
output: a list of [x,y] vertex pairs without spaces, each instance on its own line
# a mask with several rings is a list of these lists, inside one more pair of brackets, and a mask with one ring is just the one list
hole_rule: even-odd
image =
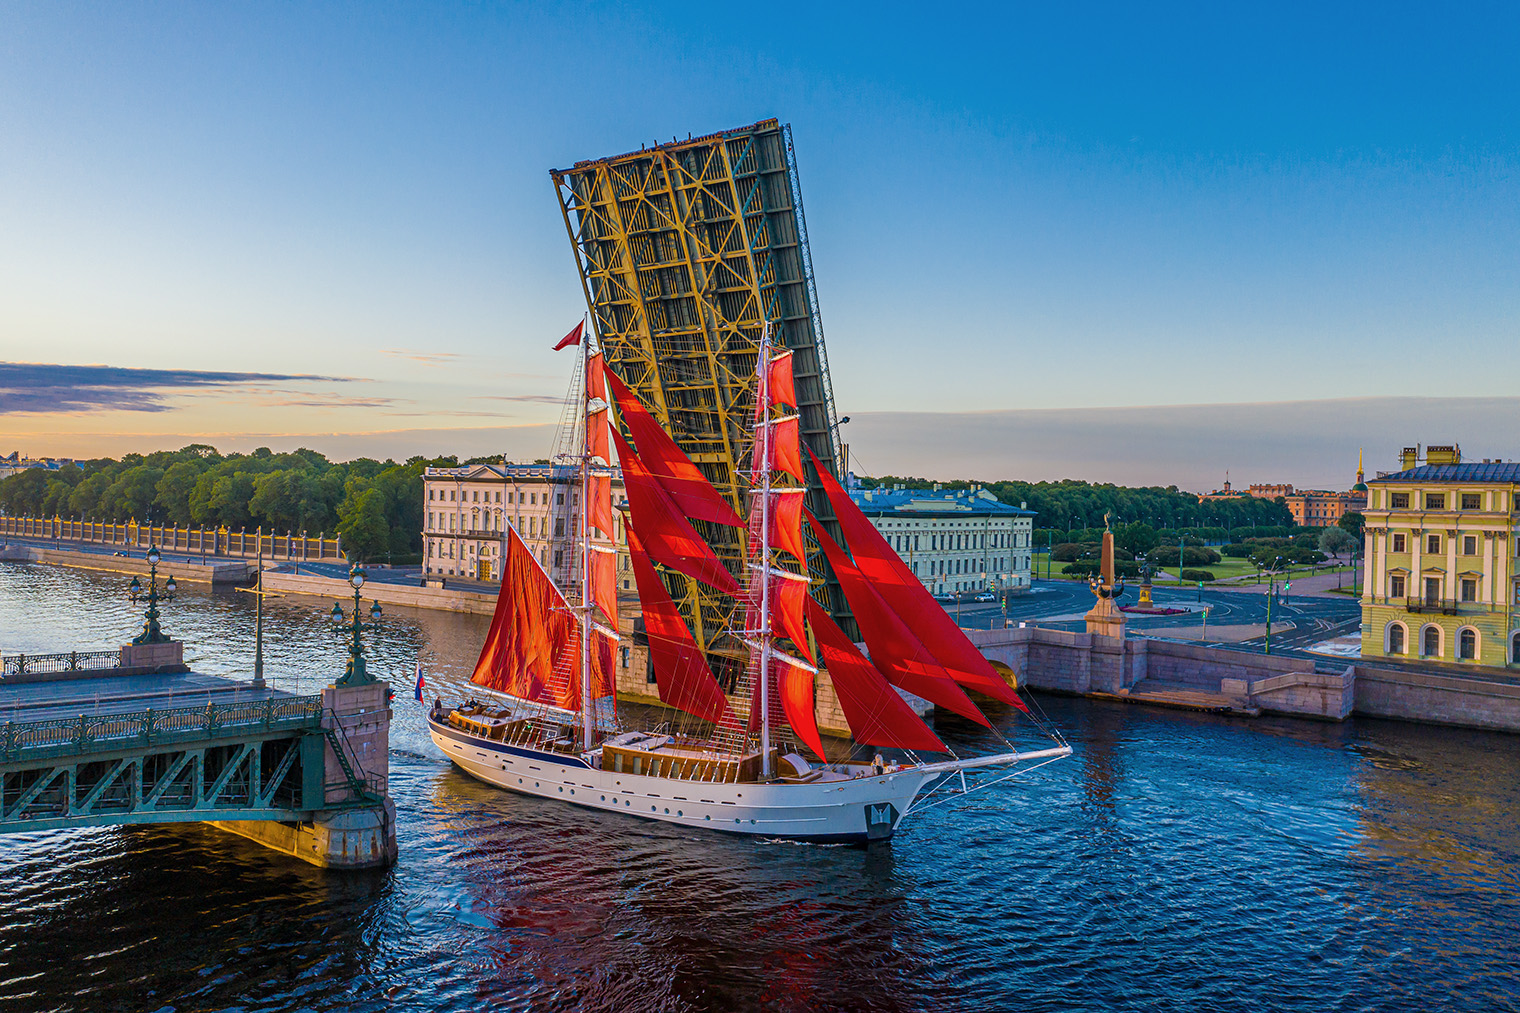
[[8,721],[0,727],[0,761],[76,756],[193,739],[233,738],[249,732],[316,730],[321,726],[322,698],[319,695],[43,721]]

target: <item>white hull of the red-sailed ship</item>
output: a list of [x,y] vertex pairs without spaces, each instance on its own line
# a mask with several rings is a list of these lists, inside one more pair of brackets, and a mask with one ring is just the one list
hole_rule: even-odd
[[[681,826],[806,841],[888,840],[944,770],[904,767],[812,783],[713,783],[597,770],[578,754],[509,745],[429,718],[459,770],[497,788]],[[868,768],[862,768],[868,770]]]

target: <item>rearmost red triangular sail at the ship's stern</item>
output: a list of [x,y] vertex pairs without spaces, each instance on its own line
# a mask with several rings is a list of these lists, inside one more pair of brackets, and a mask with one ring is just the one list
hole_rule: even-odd
[[581,709],[581,634],[565,599],[515,529],[502,592],[471,681],[521,700]]

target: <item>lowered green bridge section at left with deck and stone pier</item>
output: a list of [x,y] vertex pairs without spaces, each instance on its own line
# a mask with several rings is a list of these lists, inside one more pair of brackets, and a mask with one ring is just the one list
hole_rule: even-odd
[[383,686],[292,695],[129,654],[0,659],[0,834],[211,821],[319,865],[394,853]]

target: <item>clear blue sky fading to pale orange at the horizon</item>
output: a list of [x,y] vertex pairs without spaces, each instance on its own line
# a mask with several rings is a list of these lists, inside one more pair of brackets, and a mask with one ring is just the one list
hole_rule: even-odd
[[1520,455],[1397,400],[1520,367],[1517,11],[0,3],[0,360],[296,374],[5,429],[529,453],[582,312],[547,170],[777,116],[844,414],[1356,397],[1377,453]]

